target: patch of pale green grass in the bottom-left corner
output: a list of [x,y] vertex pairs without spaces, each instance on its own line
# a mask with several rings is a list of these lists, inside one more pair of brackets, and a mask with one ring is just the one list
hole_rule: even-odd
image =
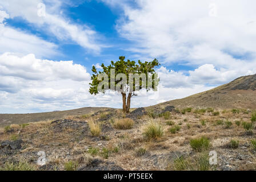
[[35,171],[36,167],[33,164],[27,163],[25,160],[20,160],[18,163],[6,162],[0,171]]

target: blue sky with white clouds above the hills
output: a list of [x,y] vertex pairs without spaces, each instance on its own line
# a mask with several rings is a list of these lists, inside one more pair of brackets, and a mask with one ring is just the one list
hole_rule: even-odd
[[[256,73],[255,0],[1,0],[0,113],[121,107],[91,96],[92,65],[123,55],[161,66],[158,92],[182,98]],[[113,102],[114,101],[114,102]]]

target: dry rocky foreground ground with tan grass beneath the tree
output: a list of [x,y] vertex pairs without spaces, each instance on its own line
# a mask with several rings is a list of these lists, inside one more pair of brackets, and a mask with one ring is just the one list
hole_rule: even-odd
[[[170,112],[170,116],[166,113]],[[239,112],[239,113],[238,113]],[[251,122],[251,110],[175,109],[173,106],[154,110],[138,108],[123,115],[121,110],[103,110],[94,114],[70,115],[63,119],[10,125],[0,129],[0,168],[31,170],[178,170],[198,169],[201,154],[217,152],[217,165],[207,170],[255,170],[256,151],[251,144],[255,126],[246,131],[242,122]],[[131,129],[116,129],[115,119],[131,118]],[[94,137],[89,122],[101,124]],[[162,137],[146,139],[143,132],[149,121],[161,123]],[[203,122],[205,121],[205,122]],[[222,121],[222,122],[221,122]],[[227,127],[227,121],[231,124]],[[240,121],[238,126],[236,123]],[[170,133],[169,129],[180,130]],[[210,140],[210,148],[193,150],[190,140]],[[238,140],[237,148],[230,140]],[[43,151],[45,165],[38,165]],[[42,154],[42,153],[41,153]],[[184,159],[190,168],[179,168]],[[182,160],[183,161],[183,160]],[[40,161],[39,161],[40,164]],[[192,166],[192,167],[191,167]]]

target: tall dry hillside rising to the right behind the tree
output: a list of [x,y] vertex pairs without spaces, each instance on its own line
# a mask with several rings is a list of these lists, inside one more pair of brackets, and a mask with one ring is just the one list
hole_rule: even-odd
[[[256,109],[256,75],[243,76],[186,98],[167,101],[156,105],[165,107],[173,105],[178,108],[185,107],[214,107],[219,109]],[[155,106],[151,106],[155,107]]]

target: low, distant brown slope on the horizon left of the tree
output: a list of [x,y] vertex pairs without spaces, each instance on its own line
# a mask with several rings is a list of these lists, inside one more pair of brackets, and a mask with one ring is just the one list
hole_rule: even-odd
[[53,111],[48,113],[33,114],[0,114],[0,127],[10,124],[21,124],[37,121],[46,121],[47,119],[61,119],[67,115],[83,115],[95,113],[99,110],[110,109],[107,107],[83,107],[80,109]]

